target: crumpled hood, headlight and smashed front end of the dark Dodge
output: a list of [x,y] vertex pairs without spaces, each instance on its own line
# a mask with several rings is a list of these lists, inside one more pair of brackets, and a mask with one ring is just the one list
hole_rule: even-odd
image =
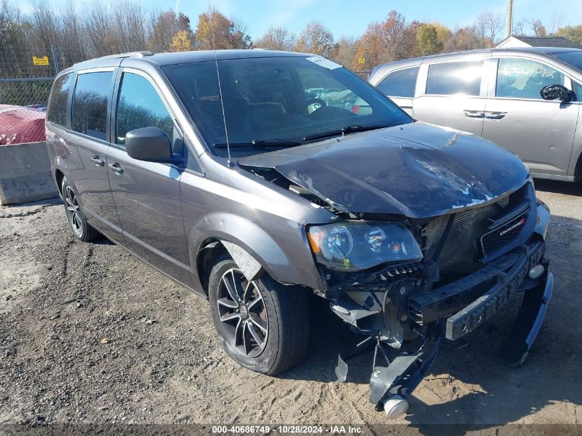
[[503,353],[509,366],[523,364],[553,278],[544,260],[550,211],[515,155],[410,123],[240,165],[335,215],[306,227],[325,282],[315,293],[366,336],[340,355],[340,382],[351,357],[375,350],[377,410],[404,413],[442,342],[463,338],[517,292],[523,304]]

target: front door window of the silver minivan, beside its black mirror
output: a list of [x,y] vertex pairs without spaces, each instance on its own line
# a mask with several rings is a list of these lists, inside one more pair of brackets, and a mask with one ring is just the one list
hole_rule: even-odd
[[499,59],[495,95],[541,100],[541,88],[563,83],[564,75],[543,63],[529,59]]

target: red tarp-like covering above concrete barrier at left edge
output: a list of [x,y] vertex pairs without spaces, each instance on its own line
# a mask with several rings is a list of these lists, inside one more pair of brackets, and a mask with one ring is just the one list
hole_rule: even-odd
[[45,117],[29,107],[0,105],[0,145],[45,141]]

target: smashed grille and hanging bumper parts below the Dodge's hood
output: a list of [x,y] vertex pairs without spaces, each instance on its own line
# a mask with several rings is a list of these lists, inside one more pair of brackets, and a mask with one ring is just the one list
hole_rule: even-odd
[[[384,238],[389,251],[399,249],[406,259],[357,271],[318,259],[326,279],[320,295],[331,300],[333,312],[353,331],[367,336],[338,357],[338,381],[346,380],[351,357],[374,349],[369,399],[389,417],[406,411],[406,397],[430,371],[445,339],[463,338],[517,292],[525,295],[503,357],[508,366],[521,366],[553,287],[543,257],[550,213],[535,199],[530,182],[479,207],[404,221],[420,256],[409,240],[391,233]],[[368,229],[365,243],[379,245],[371,233],[382,227],[371,223]],[[313,233],[318,233],[309,233],[316,258],[318,247],[336,249],[334,245],[343,242],[329,231],[319,240]]]

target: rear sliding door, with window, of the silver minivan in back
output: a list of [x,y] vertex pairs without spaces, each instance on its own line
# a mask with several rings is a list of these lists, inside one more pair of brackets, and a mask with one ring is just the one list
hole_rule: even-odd
[[485,58],[423,63],[413,100],[419,121],[481,135],[487,84]]

